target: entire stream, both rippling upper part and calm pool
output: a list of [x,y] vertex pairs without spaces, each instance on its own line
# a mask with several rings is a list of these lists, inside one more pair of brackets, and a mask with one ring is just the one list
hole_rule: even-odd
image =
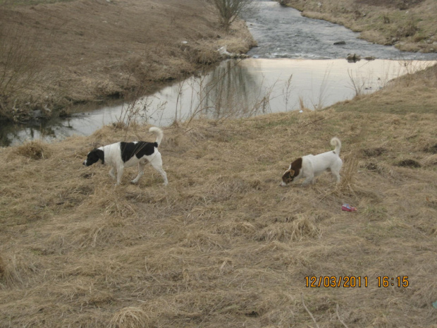
[[[302,106],[317,109],[357,93],[374,92],[393,78],[436,63],[437,54],[371,44],[340,25],[304,18],[274,1],[258,2],[258,13],[245,18],[259,44],[249,52],[251,59],[223,61],[201,76],[168,85],[130,104],[78,107],[68,119],[0,126],[0,146],[90,135],[132,114],[137,120],[168,126],[199,116],[221,119]],[[345,44],[333,44],[338,41]],[[376,60],[349,63],[348,53]]]

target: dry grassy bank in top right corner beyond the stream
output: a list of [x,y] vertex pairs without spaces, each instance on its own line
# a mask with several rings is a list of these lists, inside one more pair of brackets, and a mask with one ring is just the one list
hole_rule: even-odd
[[[437,52],[434,0],[276,0],[309,18],[361,32],[364,40],[402,51]],[[341,40],[339,40],[341,41]]]

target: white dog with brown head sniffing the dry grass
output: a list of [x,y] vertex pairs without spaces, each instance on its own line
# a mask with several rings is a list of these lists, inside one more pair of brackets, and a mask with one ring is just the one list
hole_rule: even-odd
[[316,156],[302,156],[291,163],[288,170],[282,176],[281,186],[287,186],[288,183],[297,181],[300,178],[305,178],[302,184],[312,183],[314,177],[322,174],[324,171],[331,171],[337,183],[340,182],[340,169],[343,165],[343,161],[339,156],[341,142],[338,138],[332,138],[331,145],[335,146],[336,149]]

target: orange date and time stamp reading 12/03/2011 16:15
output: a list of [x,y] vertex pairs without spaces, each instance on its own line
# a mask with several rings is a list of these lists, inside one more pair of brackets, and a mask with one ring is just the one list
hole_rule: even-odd
[[[372,283],[374,282],[374,284]],[[379,288],[386,287],[408,287],[410,281],[408,276],[378,276],[374,279],[369,279],[367,276],[307,276],[305,277],[305,287],[321,288],[321,287],[343,287],[343,288],[361,288],[375,286]]]

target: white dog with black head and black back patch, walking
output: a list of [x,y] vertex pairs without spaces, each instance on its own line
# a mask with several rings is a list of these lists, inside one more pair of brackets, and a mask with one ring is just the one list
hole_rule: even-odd
[[101,164],[106,164],[111,167],[109,175],[116,178],[114,170],[117,171],[117,183],[121,183],[121,176],[125,167],[135,166],[138,164],[138,175],[132,183],[137,183],[144,174],[144,166],[147,163],[152,164],[154,169],[164,178],[164,186],[168,185],[167,174],[162,169],[161,153],[158,151],[158,145],[164,136],[160,128],[149,128],[150,133],[156,135],[155,142],[135,141],[135,142],[116,142],[111,145],[106,145],[99,148],[94,148],[88,153],[87,159],[83,164],[90,166],[101,161]]

